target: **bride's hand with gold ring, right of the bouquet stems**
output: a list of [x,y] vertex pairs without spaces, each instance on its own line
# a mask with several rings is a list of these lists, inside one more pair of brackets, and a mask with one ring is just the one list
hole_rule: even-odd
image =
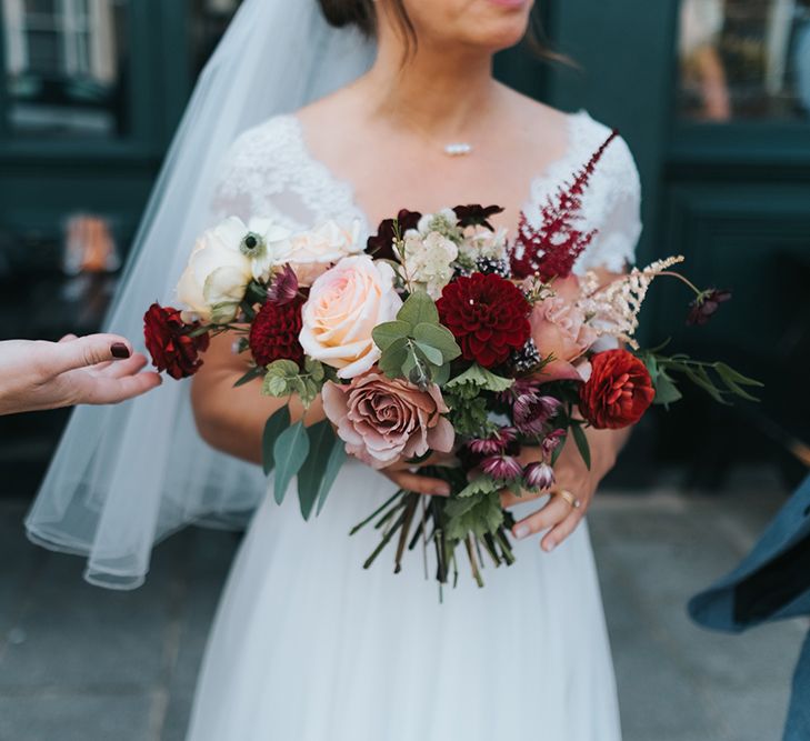
[[[599,482],[613,468],[628,432],[589,428],[586,430],[586,435],[591,452],[590,471],[577,450],[577,445],[569,440],[554,464],[556,483],[551,489],[552,495],[537,512],[518,521],[512,528],[512,534],[518,540],[548,530],[540,541],[540,547],[548,552],[557,548],[577,529],[593,500]],[[540,449],[524,448],[519,460],[523,464],[541,460]],[[580,505],[574,507],[566,497],[554,493],[561,491],[570,492]],[[513,507],[544,497],[546,493],[548,492],[540,494],[526,492],[522,497],[516,497],[509,491],[503,491],[501,503],[503,507]]]

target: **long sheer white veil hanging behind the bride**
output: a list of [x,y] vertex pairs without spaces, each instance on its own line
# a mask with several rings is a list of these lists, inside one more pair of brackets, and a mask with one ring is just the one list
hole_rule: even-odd
[[[218,172],[246,129],[359,77],[373,44],[337,30],[316,0],[246,0],[202,72],[154,186],[104,329],[140,339],[208,227]],[[138,343],[136,343],[138,347]],[[29,538],[87,555],[101,587],[143,583],[154,543],[189,523],[240,527],[262,499],[258,467],[198,435],[189,381],[117,407],[77,409],[26,519]]]

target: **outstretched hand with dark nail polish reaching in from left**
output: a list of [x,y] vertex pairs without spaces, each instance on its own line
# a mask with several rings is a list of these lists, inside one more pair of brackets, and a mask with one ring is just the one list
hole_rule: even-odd
[[160,385],[147,362],[118,334],[0,342],[0,414],[131,399]]

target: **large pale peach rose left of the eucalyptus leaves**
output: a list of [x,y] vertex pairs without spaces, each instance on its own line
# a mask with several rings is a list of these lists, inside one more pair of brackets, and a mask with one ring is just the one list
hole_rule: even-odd
[[299,340],[304,352],[354,378],[380,358],[374,327],[392,321],[402,307],[394,272],[367,254],[343,258],[316,279],[303,306]]

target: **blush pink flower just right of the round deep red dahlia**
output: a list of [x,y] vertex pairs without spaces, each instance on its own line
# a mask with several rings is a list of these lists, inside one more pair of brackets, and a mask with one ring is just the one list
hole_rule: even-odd
[[586,323],[584,311],[577,306],[579,279],[569,276],[553,283],[554,296],[538,301],[531,312],[531,338],[540,354],[553,360],[543,368],[539,380],[584,380],[586,363],[578,363],[597,341],[596,330]]

